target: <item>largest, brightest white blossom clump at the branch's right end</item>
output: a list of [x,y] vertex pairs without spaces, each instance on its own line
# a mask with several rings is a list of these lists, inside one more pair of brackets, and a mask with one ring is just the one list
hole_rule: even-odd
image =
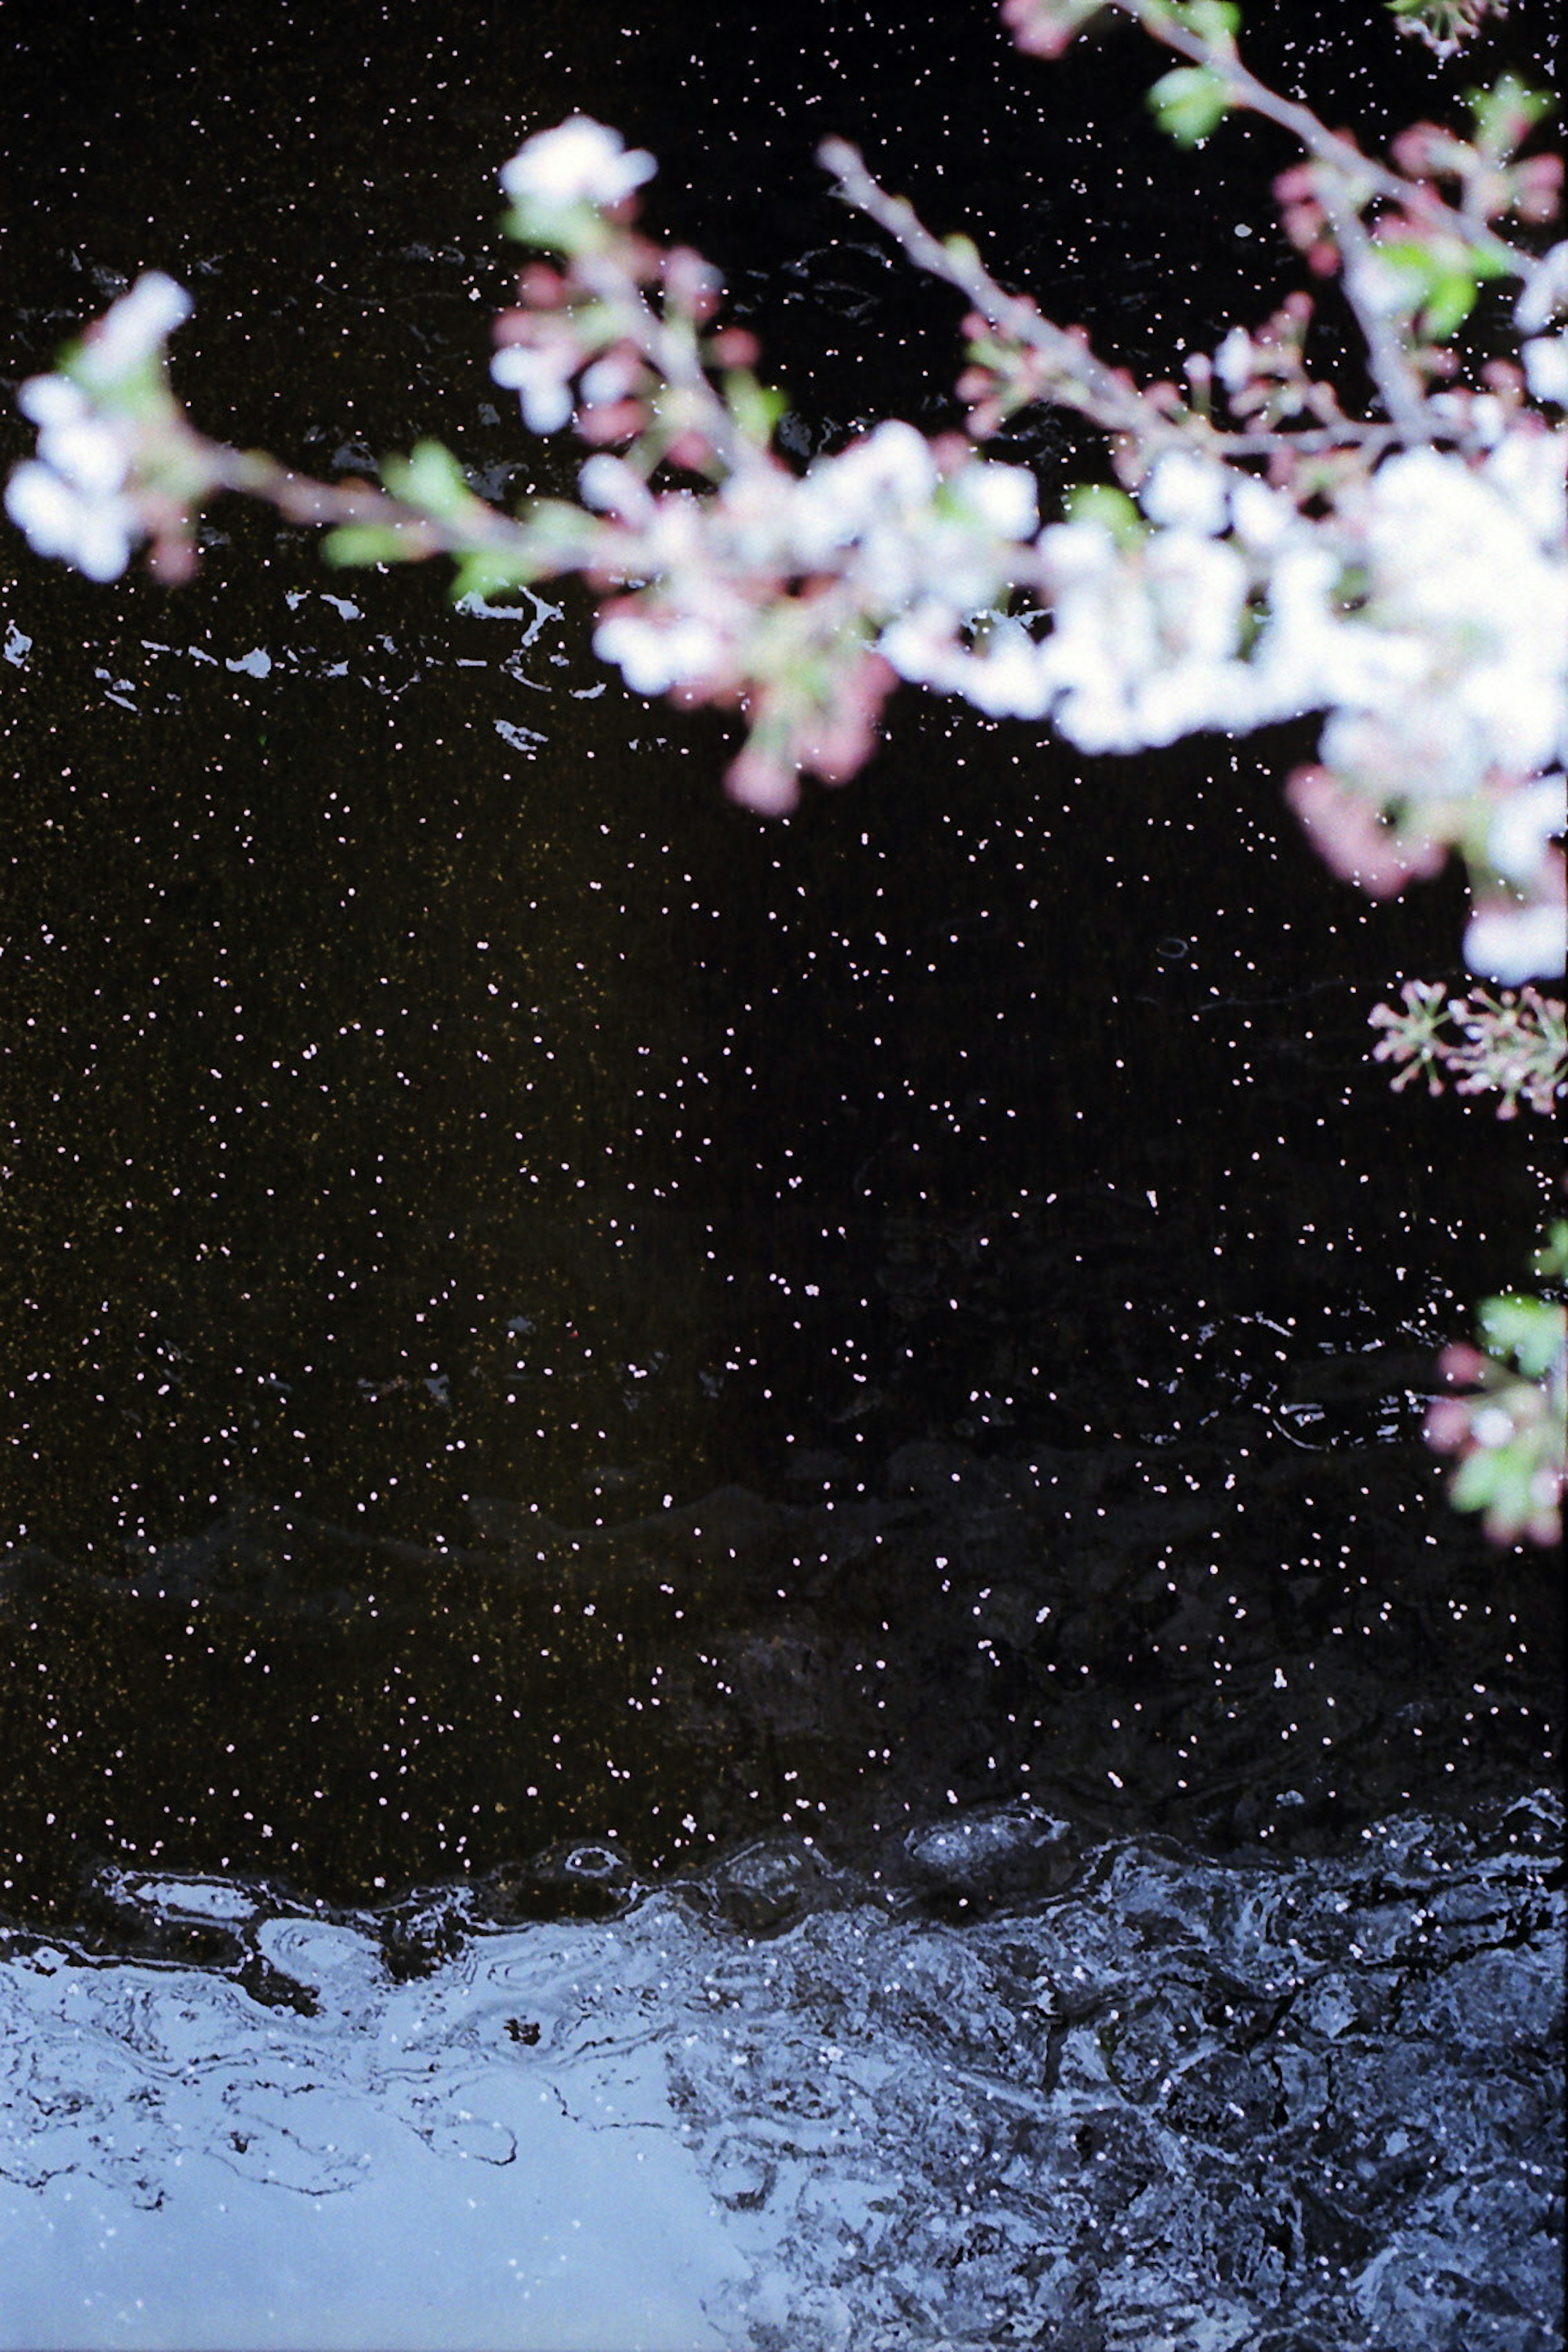
[[[1335,555],[1356,567],[1354,609]],[[1324,764],[1288,788],[1328,863],[1380,896],[1460,847],[1521,894],[1483,896],[1472,971],[1561,971],[1563,804],[1540,774],[1568,734],[1561,435],[1507,430],[1479,466],[1410,449],[1352,485],[1316,546],[1272,567],[1258,668],[1281,666],[1302,708],[1328,708]]]

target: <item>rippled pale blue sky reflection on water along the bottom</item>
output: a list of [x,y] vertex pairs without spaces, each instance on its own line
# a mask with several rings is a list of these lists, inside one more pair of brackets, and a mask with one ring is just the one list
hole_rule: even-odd
[[7,2340],[1547,2352],[1559,1816],[1114,1842],[1023,1907],[973,1816],[599,1926],[110,1877],[160,1959],[0,1952]]

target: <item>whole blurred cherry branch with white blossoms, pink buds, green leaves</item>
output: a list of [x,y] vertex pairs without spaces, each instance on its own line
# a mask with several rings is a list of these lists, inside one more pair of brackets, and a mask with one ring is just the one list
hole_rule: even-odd
[[[1483,5],[1403,14],[1446,40]],[[505,515],[433,442],[371,489],[202,440],[165,376],[188,301],[146,278],[24,386],[40,449],[9,515],[94,579],[143,536],[165,576],[188,572],[216,489],[334,524],[336,560],[444,553],[458,593],[578,574],[599,597],[595,649],[632,691],[738,713],[726,783],[769,814],[804,776],[842,783],[872,755],[900,680],[1086,753],[1319,715],[1286,795],[1328,866],[1385,896],[1458,854],[1469,969],[1526,985],[1439,1014],[1408,983],[1378,1054],[1396,1084],[1446,1073],[1502,1091],[1505,1112],[1544,1108],[1561,1007],[1528,983],[1568,960],[1568,240],[1509,242],[1559,202],[1559,160],[1521,153],[1544,101],[1505,75],[1472,94],[1467,136],[1413,125],[1380,162],[1255,80],[1229,0],[1004,0],[1004,16],[1046,56],[1098,16],[1140,24],[1178,56],[1152,103],[1182,143],[1237,111],[1298,136],[1276,198],[1319,292],[1229,327],[1182,386],[1135,383],[830,141],[844,202],[969,303],[966,430],[884,421],[802,470],[752,336],[722,320],[717,270],[637,228],[654,158],[574,115],[501,172],[531,259],[491,372],[529,430],[576,433],[576,499]],[[1361,336],[1368,414],[1312,372],[1324,296]],[[1483,296],[1512,306],[1497,322],[1516,355],[1467,367],[1458,336]],[[1114,477],[1048,515],[1034,475],[985,447],[1032,405],[1093,423]]]

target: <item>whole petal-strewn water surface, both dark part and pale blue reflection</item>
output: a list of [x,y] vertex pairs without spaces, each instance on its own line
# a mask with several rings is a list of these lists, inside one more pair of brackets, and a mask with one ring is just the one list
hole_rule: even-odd
[[[1131,52],[851,16],[40,21],[0,372],[162,266],[212,430],[562,487],[571,108],[802,449],[954,355],[825,129],[1138,365],[1291,282]],[[1371,129],[1486,71],[1356,21]],[[0,555],[0,2340],[1544,2352],[1561,1595],[1420,1414],[1549,1167],[1366,1063],[1453,894],[1324,880],[1309,731],[910,699],[759,826],[576,595],[207,541]]]

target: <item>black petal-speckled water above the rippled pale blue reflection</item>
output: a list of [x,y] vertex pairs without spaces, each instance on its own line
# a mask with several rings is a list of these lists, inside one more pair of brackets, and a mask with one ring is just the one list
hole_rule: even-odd
[[[0,381],[165,268],[207,430],[324,473],[435,433],[562,489],[487,322],[496,169],[576,108],[661,158],[646,219],[726,268],[799,447],[954,416],[957,306],[825,198],[830,129],[1138,369],[1295,282],[1286,153],[1168,153],[1131,35],[1048,68],[990,0],[623,14],[19,12]],[[1251,54],[1368,139],[1544,64],[1535,12],[1448,68],[1312,26],[1260,12]],[[1046,501],[1093,463],[1013,447]],[[324,574],[266,515],[205,539],[176,593],[0,541],[7,1903],[106,1856],[324,1896],[567,1830],[658,1860],[802,1773],[846,1839],[1025,1771],[1253,1837],[1284,1785],[1338,1835],[1544,1769],[1549,1571],[1418,1439],[1542,1155],[1371,1068],[1371,1004],[1458,978],[1460,894],[1324,875],[1279,795],[1309,727],[1084,762],[905,696],[759,826],[574,593],[517,649],[534,614]],[[717,1486],[773,1515],[755,1557],[649,1581],[649,1515]],[[623,1534],[585,1571],[571,1529]]]

